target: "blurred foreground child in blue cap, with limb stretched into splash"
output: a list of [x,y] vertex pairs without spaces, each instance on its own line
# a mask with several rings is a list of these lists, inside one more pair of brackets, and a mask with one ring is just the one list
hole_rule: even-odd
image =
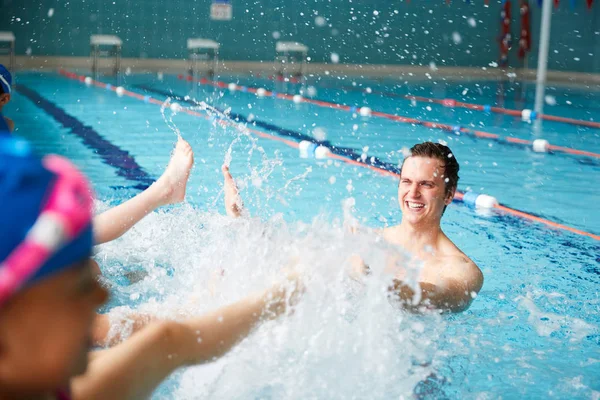
[[265,319],[283,314],[296,277],[183,322],[157,321],[90,352],[107,299],[91,266],[92,198],[58,156],[39,160],[0,135],[0,400],[138,399],[176,369],[210,362]]

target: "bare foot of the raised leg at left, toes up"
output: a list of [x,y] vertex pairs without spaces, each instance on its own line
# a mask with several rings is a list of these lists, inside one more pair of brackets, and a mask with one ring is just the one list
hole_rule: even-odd
[[190,170],[194,164],[194,152],[188,142],[179,138],[175,150],[171,155],[171,161],[162,176],[156,181],[157,187],[161,189],[161,203],[180,203],[185,198],[185,189],[190,177]]

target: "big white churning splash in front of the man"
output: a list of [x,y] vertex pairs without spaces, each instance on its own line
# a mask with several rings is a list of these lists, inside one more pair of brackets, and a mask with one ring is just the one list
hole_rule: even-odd
[[[265,288],[290,264],[303,271],[307,292],[293,314],[266,323],[222,361],[173,378],[174,398],[398,398],[443,358],[436,342],[445,323],[407,314],[388,298],[382,271],[390,252],[404,257],[322,218],[231,220],[186,205],[149,215],[96,259],[110,282],[145,271],[135,283],[113,285],[111,314],[119,317],[134,308],[199,315]],[[348,278],[355,253],[374,271],[364,286]]]

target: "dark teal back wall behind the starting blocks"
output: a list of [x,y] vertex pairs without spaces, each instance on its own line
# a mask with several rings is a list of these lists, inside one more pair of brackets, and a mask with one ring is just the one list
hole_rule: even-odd
[[[556,70],[600,72],[600,4],[575,9],[568,1],[554,10],[549,66]],[[518,2],[513,2],[513,33],[518,35]],[[499,1],[281,1],[232,0],[233,20],[212,21],[207,0],[0,0],[0,30],[17,36],[17,52],[37,55],[89,54],[89,36],[114,33],[124,41],[125,57],[182,58],[188,37],[222,44],[227,60],[274,57],[274,32],[282,40],[307,44],[315,62],[331,53],[353,64],[413,64],[488,67],[498,59]],[[52,17],[48,10],[54,9]],[[374,15],[374,11],[378,15]],[[534,52],[541,8],[532,4]],[[323,16],[325,26],[315,17]],[[468,21],[473,18],[476,26]],[[455,43],[453,35],[460,35]],[[518,65],[517,38],[511,65]]]

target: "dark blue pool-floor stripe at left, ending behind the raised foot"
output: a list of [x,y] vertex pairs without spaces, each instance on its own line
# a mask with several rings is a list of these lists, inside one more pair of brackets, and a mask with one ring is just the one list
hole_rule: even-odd
[[109,142],[94,128],[85,125],[28,86],[16,84],[15,89],[17,93],[31,100],[61,126],[81,138],[83,144],[98,154],[102,162],[117,170],[117,175],[137,183],[133,186],[135,189],[144,190],[154,182],[154,179],[135,161],[135,158],[128,151]]

